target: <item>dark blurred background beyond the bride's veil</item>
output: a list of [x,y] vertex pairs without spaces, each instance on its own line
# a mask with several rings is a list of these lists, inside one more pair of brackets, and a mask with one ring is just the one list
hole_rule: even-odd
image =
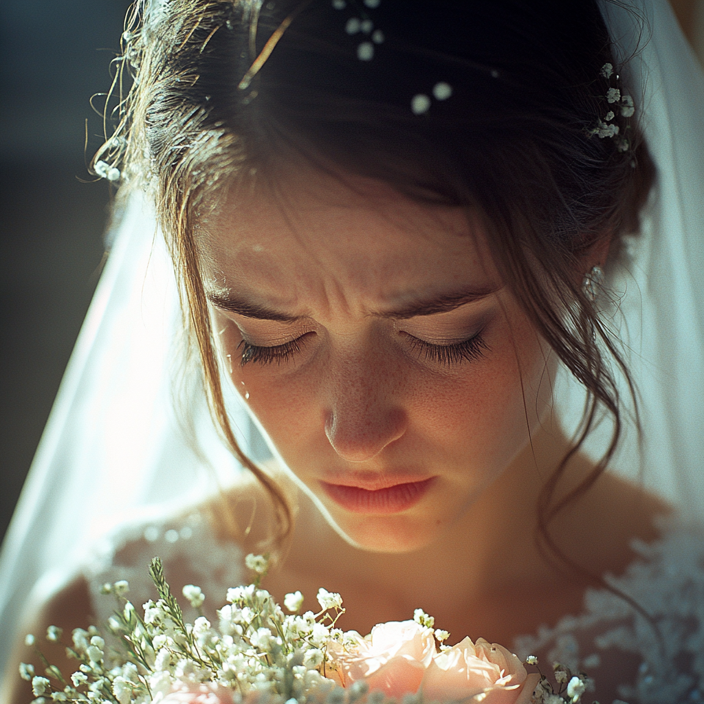
[[[89,98],[130,4],[0,0],[0,540],[99,277],[110,193],[86,168]],[[704,56],[704,0],[672,4]]]

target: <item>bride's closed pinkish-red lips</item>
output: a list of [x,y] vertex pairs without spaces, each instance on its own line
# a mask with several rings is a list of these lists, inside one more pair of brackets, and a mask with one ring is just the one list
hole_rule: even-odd
[[359,486],[363,482],[330,484],[321,481],[320,486],[332,501],[351,513],[389,514],[401,513],[418,503],[435,479],[429,477],[419,482],[400,482],[379,489]]

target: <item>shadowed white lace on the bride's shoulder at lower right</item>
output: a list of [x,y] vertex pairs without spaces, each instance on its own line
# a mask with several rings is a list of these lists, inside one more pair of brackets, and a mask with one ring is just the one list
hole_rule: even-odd
[[587,672],[602,703],[704,703],[704,526],[663,522],[660,540],[634,549],[627,572],[608,582],[650,621],[615,593],[589,590],[581,615],[522,636],[515,651]]

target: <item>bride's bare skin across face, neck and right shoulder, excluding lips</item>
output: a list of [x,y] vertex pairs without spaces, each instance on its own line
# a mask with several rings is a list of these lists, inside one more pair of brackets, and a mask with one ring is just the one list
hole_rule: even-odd
[[[550,413],[554,356],[498,278],[476,222],[383,184],[305,172],[275,190],[233,189],[197,237],[222,359],[294,483],[294,536],[265,583],[279,601],[325,586],[344,596],[346,629],[365,633],[420,605],[457,634],[507,644],[579,611],[593,578],[545,560],[534,540],[539,491],[570,447]],[[589,256],[579,280],[605,248]],[[467,289],[486,295],[398,315]],[[253,317],[264,309],[295,320]],[[477,332],[481,354],[451,364],[411,338],[447,345]],[[291,340],[286,358],[246,361],[246,344]],[[592,469],[574,458],[556,498]],[[347,510],[321,484],[394,477],[434,479],[396,513]],[[554,534],[591,574],[619,573],[631,539],[654,539],[663,510],[605,475]]]

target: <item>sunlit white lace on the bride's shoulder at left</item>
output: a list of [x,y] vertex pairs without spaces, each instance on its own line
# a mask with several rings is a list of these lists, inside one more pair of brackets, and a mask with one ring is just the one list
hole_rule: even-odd
[[115,608],[113,599],[101,594],[106,582],[127,580],[127,596],[137,608],[156,598],[149,577],[154,557],[161,558],[166,579],[191,621],[197,614],[191,612],[186,599],[180,598],[185,584],[203,589],[203,609],[214,618],[215,609],[225,603],[227,588],[241,584],[244,578],[241,549],[232,541],[218,541],[201,513],[127,524],[103,541],[95,559],[84,568],[97,623],[106,622]]

